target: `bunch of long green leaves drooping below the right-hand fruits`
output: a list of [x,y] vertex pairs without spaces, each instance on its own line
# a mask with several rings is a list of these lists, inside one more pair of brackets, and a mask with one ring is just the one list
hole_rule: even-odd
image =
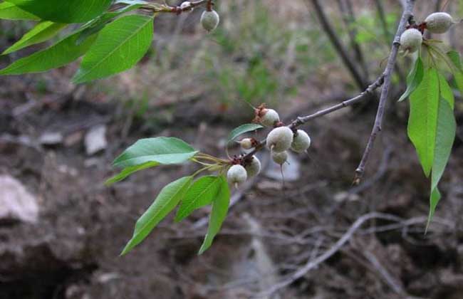
[[[427,177],[431,175],[429,226],[441,198],[437,185],[449,160],[457,127],[453,91],[440,73],[439,58],[447,63],[452,73],[458,75],[461,69],[458,55],[448,53],[447,56],[435,46],[428,46],[427,50],[429,65],[423,68],[422,80],[417,83],[420,68],[415,63],[407,80],[407,91],[412,90],[408,136],[415,145],[423,171]],[[406,94],[402,98],[406,98]]]

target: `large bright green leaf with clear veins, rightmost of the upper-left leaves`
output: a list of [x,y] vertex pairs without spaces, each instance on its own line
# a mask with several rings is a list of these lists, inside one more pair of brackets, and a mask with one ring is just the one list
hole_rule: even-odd
[[123,16],[113,21],[98,34],[73,82],[105,78],[132,68],[150,48],[152,36],[150,16]]

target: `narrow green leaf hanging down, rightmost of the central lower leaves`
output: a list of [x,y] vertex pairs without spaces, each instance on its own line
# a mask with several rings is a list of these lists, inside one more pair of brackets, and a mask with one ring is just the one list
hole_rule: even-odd
[[212,211],[209,216],[209,227],[207,228],[207,234],[204,237],[201,248],[198,254],[204,253],[212,245],[214,237],[219,233],[222,223],[227,217],[228,208],[230,204],[230,189],[228,187],[227,179],[222,176],[220,177],[220,187],[217,196],[212,201]]

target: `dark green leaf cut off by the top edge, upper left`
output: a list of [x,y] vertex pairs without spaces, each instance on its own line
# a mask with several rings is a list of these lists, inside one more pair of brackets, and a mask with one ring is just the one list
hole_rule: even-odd
[[99,16],[113,0],[6,0],[46,21],[82,23]]

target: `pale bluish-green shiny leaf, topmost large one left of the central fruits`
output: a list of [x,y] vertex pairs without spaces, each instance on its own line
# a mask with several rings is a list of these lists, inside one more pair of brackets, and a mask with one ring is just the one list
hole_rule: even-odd
[[131,167],[146,162],[160,164],[180,164],[192,158],[197,150],[175,137],[155,137],[140,139],[128,147],[113,165],[115,167]]

